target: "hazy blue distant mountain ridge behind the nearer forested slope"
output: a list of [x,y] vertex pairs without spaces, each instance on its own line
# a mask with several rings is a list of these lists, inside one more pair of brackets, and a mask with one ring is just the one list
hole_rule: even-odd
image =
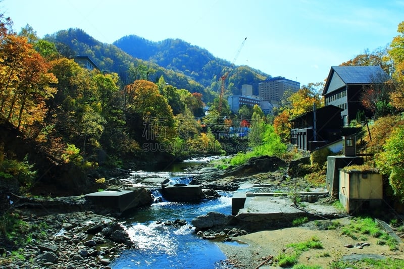
[[[232,65],[228,61],[215,58],[208,50],[181,39],[151,42],[129,35],[115,41],[114,45],[135,58],[155,62],[166,69],[187,75],[205,87],[211,86],[224,74],[224,69]],[[233,94],[239,94],[237,90],[241,89],[242,84],[250,84],[258,95],[258,82],[267,78],[271,76],[248,66],[237,66],[230,74],[229,80],[233,85],[229,90]]]

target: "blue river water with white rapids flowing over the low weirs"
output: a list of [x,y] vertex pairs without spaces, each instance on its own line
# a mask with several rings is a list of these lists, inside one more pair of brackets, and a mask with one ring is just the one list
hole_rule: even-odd
[[[159,184],[147,178],[170,178],[172,183],[187,184],[192,174],[183,172],[134,172],[125,179],[133,186],[147,186],[155,197],[161,196]],[[146,183],[142,183],[145,182]],[[211,211],[231,214],[232,193],[220,192],[214,200],[197,203],[169,202],[163,198],[150,206],[139,208],[122,221],[136,248],[124,250],[110,266],[118,268],[224,268],[220,261],[226,259],[219,247],[195,235],[193,218]],[[174,227],[166,221],[185,220],[186,225]]]

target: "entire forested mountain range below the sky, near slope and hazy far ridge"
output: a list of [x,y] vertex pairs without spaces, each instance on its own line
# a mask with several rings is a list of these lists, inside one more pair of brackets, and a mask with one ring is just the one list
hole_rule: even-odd
[[[220,91],[220,77],[231,71],[226,80],[226,93],[240,94],[242,84],[250,84],[258,95],[258,83],[270,75],[248,66],[232,66],[216,58],[208,50],[181,39],[153,42],[136,35],[128,35],[113,44],[102,43],[81,29],[61,30],[45,39],[66,45],[73,56],[88,56],[101,70],[116,72],[123,83],[132,83],[139,74],[157,82],[165,81],[179,89],[204,94],[205,102],[212,101]],[[135,74],[135,75],[134,75]]]

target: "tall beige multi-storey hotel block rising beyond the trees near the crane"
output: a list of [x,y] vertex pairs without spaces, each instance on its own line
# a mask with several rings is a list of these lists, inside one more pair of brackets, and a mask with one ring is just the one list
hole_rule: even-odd
[[300,89],[300,82],[274,77],[258,83],[258,93],[262,101],[278,103],[286,90],[297,92]]

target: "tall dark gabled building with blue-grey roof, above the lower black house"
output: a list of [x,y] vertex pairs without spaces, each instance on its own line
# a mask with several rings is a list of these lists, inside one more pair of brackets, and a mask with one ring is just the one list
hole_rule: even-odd
[[323,90],[325,105],[332,104],[342,109],[344,126],[357,119],[358,113],[371,118],[373,115],[362,106],[362,92],[387,78],[379,66],[332,66]]

